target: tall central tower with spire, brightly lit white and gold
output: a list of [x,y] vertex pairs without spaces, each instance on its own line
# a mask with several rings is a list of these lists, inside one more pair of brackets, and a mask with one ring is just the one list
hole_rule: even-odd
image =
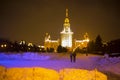
[[61,46],[71,48],[73,32],[70,29],[68,9],[66,9],[66,17],[63,24],[63,30],[62,32],[60,32],[60,34],[61,34]]

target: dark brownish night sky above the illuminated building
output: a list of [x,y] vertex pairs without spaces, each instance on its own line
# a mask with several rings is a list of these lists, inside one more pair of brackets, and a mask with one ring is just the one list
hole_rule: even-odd
[[60,38],[69,9],[74,38],[83,39],[88,32],[94,40],[120,38],[119,0],[0,0],[0,38],[44,42],[45,33]]

